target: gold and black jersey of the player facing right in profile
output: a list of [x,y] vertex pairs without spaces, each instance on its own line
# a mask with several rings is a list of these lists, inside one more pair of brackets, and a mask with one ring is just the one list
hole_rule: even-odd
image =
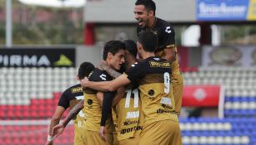
[[[95,69],[88,76],[90,81],[108,81],[113,80],[107,72],[103,70]],[[102,116],[102,107],[97,99],[98,91],[93,89],[84,90],[84,108],[87,114],[87,120],[85,122],[84,128],[90,131],[99,132],[100,120]],[[109,118],[106,122],[106,132],[111,133],[114,131],[113,121]]]

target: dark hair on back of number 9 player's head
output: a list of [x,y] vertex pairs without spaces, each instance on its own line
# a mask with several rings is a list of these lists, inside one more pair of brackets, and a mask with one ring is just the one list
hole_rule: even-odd
[[158,36],[153,31],[141,31],[138,34],[138,42],[144,51],[154,52],[158,47]]

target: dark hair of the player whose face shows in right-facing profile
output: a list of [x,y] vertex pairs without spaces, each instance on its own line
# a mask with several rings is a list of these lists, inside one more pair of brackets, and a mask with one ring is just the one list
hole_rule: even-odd
[[103,60],[107,60],[108,52],[112,53],[113,56],[120,50],[124,50],[125,46],[122,41],[108,41],[103,50]]

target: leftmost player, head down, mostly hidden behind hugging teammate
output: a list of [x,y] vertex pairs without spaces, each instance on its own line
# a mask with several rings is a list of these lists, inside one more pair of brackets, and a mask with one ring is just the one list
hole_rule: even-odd
[[[94,70],[93,64],[90,62],[83,62],[78,68],[78,75],[77,79],[82,80],[85,76],[88,75]],[[50,134],[52,133],[53,126],[59,123],[60,118],[63,116],[63,113],[66,109],[70,108],[73,109],[73,106],[78,104],[80,99],[83,99],[83,89],[81,84],[73,85],[66,89],[63,94],[61,95],[60,99],[58,100],[58,106],[55,109],[55,113],[51,119],[51,123],[48,129],[48,141],[47,145],[53,144],[53,136]],[[83,126],[83,121],[86,119],[84,116],[84,110],[81,110],[80,113],[74,118],[74,144],[81,143],[81,127]]]

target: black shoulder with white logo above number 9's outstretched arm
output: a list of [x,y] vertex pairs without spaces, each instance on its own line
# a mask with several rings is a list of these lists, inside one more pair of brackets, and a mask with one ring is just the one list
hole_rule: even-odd
[[112,80],[111,76],[104,70],[95,69],[92,74],[89,75],[88,80],[90,81],[107,81]]

